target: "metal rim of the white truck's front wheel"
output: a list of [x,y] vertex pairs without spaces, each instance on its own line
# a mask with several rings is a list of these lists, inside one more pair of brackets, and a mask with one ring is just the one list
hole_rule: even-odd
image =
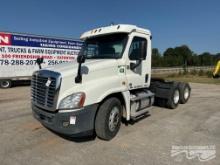
[[113,107],[109,115],[109,129],[115,131],[119,123],[119,108]]

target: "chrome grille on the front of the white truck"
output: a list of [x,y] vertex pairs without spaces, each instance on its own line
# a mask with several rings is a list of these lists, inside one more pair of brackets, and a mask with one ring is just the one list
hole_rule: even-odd
[[55,110],[60,79],[60,74],[56,72],[35,72],[31,80],[32,103],[45,110]]

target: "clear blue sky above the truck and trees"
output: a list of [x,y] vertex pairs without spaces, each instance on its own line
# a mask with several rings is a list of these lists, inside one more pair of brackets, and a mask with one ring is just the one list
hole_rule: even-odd
[[153,47],[188,45],[220,52],[220,0],[0,0],[0,31],[80,37],[92,28],[134,24],[151,30]]

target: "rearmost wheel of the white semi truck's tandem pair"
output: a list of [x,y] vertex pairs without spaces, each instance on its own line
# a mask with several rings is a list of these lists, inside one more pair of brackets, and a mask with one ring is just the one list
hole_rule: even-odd
[[188,83],[180,83],[179,90],[180,90],[180,103],[185,104],[190,98],[191,88]]

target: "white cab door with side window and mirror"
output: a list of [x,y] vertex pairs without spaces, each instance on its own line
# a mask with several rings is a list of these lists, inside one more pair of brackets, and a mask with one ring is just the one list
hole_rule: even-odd
[[151,75],[151,42],[150,36],[131,33],[127,51],[126,78],[128,89],[149,87]]

